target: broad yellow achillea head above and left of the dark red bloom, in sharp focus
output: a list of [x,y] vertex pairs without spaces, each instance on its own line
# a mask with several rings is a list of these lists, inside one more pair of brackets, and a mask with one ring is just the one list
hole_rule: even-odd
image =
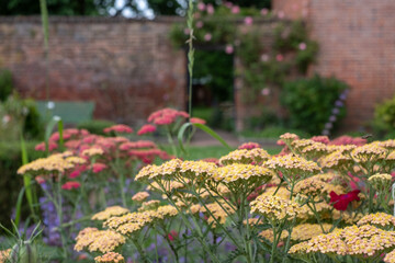
[[292,178],[305,178],[320,172],[317,163],[293,155],[273,157],[263,165],[282,172],[284,176],[291,175]]

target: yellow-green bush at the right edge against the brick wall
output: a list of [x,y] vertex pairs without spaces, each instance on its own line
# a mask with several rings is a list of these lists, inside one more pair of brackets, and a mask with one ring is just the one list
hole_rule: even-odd
[[395,132],[395,96],[376,105],[374,110],[373,129],[383,136]]

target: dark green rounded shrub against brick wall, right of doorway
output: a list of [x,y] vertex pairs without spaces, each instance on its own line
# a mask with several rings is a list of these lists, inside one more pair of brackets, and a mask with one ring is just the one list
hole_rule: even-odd
[[[335,78],[321,78],[315,75],[311,79],[286,82],[281,102],[289,112],[292,128],[319,134],[331,115],[331,110],[347,84]],[[337,121],[346,115],[342,108]]]

